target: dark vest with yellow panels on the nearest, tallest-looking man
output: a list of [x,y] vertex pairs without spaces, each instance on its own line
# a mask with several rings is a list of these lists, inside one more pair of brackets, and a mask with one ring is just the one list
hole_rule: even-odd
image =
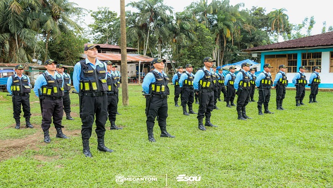
[[80,84],[82,92],[103,92],[109,90],[107,80],[105,79],[106,71],[104,62],[102,62],[102,67],[97,65],[96,69],[86,64],[85,60],[81,60],[80,64]]

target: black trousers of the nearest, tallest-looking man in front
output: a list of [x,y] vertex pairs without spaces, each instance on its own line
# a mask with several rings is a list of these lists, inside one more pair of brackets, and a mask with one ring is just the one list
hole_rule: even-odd
[[96,116],[96,135],[103,138],[105,134],[105,123],[108,119],[108,98],[107,95],[90,97],[82,96],[81,107],[82,140],[89,140],[92,132],[92,124]]

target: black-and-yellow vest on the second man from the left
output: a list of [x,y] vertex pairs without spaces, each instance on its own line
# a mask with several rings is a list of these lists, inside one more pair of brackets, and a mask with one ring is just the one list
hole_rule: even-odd
[[46,73],[43,73],[47,82],[46,85],[42,86],[42,94],[44,97],[60,98],[64,95],[61,75],[58,73],[55,73],[54,75],[56,77],[55,79]]

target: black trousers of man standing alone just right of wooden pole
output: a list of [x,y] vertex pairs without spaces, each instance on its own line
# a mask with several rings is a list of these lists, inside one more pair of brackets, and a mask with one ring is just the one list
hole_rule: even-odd
[[[165,96],[167,97],[167,96]],[[148,98],[146,98],[147,100]],[[158,95],[152,95],[150,99],[148,115],[147,115],[147,130],[152,130],[155,124],[155,118],[158,116],[158,126],[162,129],[167,126],[168,117],[168,99]]]

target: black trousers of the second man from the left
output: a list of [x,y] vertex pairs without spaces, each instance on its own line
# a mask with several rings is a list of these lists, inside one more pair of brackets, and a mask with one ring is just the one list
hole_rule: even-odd
[[63,128],[61,126],[63,116],[62,98],[60,99],[44,99],[42,101],[42,129],[48,130],[51,127],[52,117],[55,128]]

